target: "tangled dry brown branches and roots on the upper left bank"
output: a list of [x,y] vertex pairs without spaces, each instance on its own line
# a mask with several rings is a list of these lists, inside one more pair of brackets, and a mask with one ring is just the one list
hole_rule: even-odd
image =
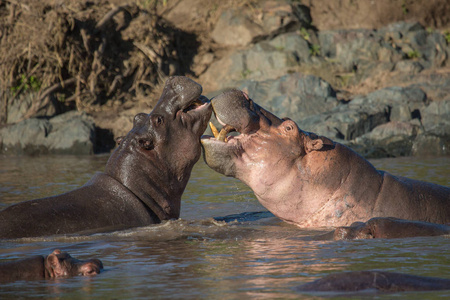
[[0,1],[0,124],[8,101],[21,94],[35,94],[24,118],[50,96],[89,111],[145,97],[165,76],[188,72],[193,53],[180,49],[196,49],[189,45],[195,38],[155,7],[128,3]]

